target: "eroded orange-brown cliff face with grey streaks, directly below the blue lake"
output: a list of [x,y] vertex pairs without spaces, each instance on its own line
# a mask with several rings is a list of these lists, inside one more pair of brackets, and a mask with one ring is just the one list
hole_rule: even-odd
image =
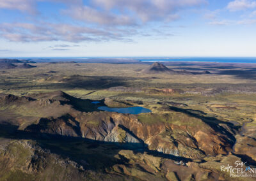
[[177,122],[175,119],[178,117],[173,114],[175,113],[152,113],[151,117],[160,120],[147,124],[140,121],[145,119],[141,115],[136,117],[108,112],[80,113],[72,115],[74,117],[68,115],[56,119],[40,119],[38,124],[28,126],[25,130],[97,141],[136,143],[136,147],[192,159],[227,154],[232,150],[234,141],[227,135],[214,131],[202,120],[186,115],[180,114],[181,120]]

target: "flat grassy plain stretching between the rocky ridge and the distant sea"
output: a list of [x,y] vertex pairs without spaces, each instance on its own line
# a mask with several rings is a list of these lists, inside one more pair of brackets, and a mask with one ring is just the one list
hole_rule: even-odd
[[[8,69],[0,75],[0,92],[26,96],[36,92],[64,91],[83,99],[104,98],[157,103],[177,102],[218,119],[252,122],[256,113],[256,80],[250,64],[171,64],[170,69],[207,70],[203,75],[144,74],[149,64],[48,64],[33,69]],[[180,89],[184,93],[108,91],[110,87]],[[221,90],[221,91],[220,91]],[[154,110],[154,108],[153,108]],[[24,112],[26,110],[22,110]],[[154,110],[157,112],[157,109]]]

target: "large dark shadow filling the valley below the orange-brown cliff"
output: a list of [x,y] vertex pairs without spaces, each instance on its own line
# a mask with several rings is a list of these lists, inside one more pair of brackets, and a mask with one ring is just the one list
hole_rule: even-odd
[[129,161],[119,155],[120,150],[132,150],[134,154],[148,154],[174,161],[188,162],[191,159],[148,150],[145,143],[113,143],[87,138],[60,136],[47,133],[31,133],[18,130],[12,124],[0,124],[0,137],[15,140],[34,140],[40,147],[50,150],[63,158],[69,158],[84,166],[86,170],[104,171],[115,164],[129,165]]

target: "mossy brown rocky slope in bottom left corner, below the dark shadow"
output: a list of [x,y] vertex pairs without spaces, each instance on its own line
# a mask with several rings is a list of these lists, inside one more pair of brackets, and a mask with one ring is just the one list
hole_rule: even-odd
[[[0,180],[119,180],[118,175],[95,173],[88,163],[77,164],[31,140],[0,142]],[[124,177],[125,178],[125,177]]]

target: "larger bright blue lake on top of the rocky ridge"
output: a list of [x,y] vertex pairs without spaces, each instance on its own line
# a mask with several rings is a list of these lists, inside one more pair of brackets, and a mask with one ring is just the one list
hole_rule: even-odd
[[100,106],[99,110],[106,112],[118,112],[118,113],[130,113],[130,114],[139,114],[139,113],[150,113],[151,110],[148,110],[143,107],[131,107],[131,108],[109,108],[107,106]]

